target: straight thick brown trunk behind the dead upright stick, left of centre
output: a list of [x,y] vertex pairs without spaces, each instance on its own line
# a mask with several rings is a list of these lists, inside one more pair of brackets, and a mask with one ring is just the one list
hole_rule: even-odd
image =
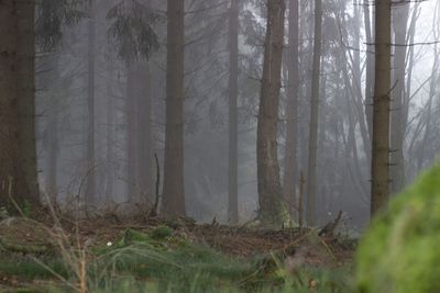
[[166,129],[162,213],[186,214],[184,189],[185,1],[167,0]]

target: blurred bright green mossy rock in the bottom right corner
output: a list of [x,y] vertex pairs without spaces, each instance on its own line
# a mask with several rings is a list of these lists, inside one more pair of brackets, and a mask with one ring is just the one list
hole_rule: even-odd
[[362,293],[440,292],[440,165],[373,221],[356,260]]

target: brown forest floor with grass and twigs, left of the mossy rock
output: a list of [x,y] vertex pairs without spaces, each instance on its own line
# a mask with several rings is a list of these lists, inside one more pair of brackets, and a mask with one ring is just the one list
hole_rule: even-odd
[[7,219],[0,292],[352,292],[356,241],[319,233],[190,218]]

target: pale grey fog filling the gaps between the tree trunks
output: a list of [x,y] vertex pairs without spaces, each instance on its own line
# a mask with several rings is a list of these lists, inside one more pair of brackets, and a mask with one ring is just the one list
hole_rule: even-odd
[[[185,44],[182,146],[178,139],[166,138],[167,123],[177,128],[179,125],[179,112],[167,110],[166,103],[174,101],[173,91],[179,87],[178,82],[170,82],[173,74],[180,72],[177,63],[168,60],[167,64],[167,58],[174,60],[178,55],[168,52],[169,36],[176,32],[170,32],[167,19],[173,18],[175,11],[167,14],[166,1],[97,0],[91,5],[68,7],[74,12],[65,14],[74,15],[75,20],[66,21],[65,15],[56,46],[44,46],[47,40],[44,35],[50,33],[44,30],[50,27],[44,26],[44,21],[36,22],[36,32],[43,35],[35,68],[37,166],[40,189],[47,200],[56,201],[70,212],[87,206],[97,214],[109,211],[133,214],[147,213],[158,192],[162,210],[167,203],[167,198],[161,196],[163,190],[166,194],[178,190],[179,177],[175,172],[178,172],[179,162],[173,158],[178,158],[175,154],[182,150],[184,192],[180,195],[184,196],[180,199],[185,201],[185,214],[200,222],[216,218],[228,223],[231,213],[229,183],[233,178],[230,173],[230,164],[233,164],[230,123],[237,122],[239,223],[256,217],[260,210],[256,142],[266,32],[265,1],[241,0],[238,3],[237,106],[231,104],[230,54],[231,32],[234,31],[230,29],[234,22],[231,22],[230,1],[184,2],[184,26],[178,23],[173,26],[183,30]],[[294,117],[297,129],[295,172],[284,180],[288,161],[287,124],[292,120],[288,116],[288,89],[292,87],[288,2],[277,155],[282,182],[294,182],[295,193],[299,194],[300,191],[305,193],[309,182],[315,4],[310,0],[299,1],[299,82],[294,89],[298,97]],[[372,31],[373,7],[356,0],[323,2],[316,224],[323,225],[342,211],[348,227],[362,229],[370,218],[372,129],[369,113],[372,110],[369,108],[373,95],[374,46],[367,40],[365,18],[369,16]],[[405,5],[409,7],[407,20],[399,14]],[[365,13],[366,8],[370,14]],[[391,147],[391,171],[400,170],[404,178],[402,187],[394,187],[396,181],[392,182],[392,190],[397,194],[429,168],[439,154],[439,3],[428,0],[398,4],[394,13],[398,16],[394,19],[393,32],[402,34],[403,31],[405,40],[404,44],[396,42],[393,46],[395,60],[398,50],[404,50],[404,64],[395,63],[392,74],[392,103],[396,101],[394,94],[403,101],[398,108],[392,105],[391,109],[392,116],[402,113],[398,116],[402,149],[395,148],[393,143]],[[178,37],[173,42],[178,42]],[[169,88],[173,84],[175,87]],[[234,106],[237,121],[230,115]],[[167,122],[167,119],[175,120]],[[392,132],[396,127],[392,123]],[[165,158],[166,139],[170,139],[170,151],[176,151],[169,153],[174,155],[168,159]],[[403,160],[398,158],[400,153]],[[305,176],[302,183],[300,173]],[[165,185],[169,189],[165,190]],[[307,194],[304,195],[307,201]]]

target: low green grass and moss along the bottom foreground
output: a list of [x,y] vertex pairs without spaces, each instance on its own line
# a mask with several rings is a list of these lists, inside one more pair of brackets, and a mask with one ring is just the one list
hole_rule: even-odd
[[[69,253],[76,256],[73,259],[80,259],[78,251]],[[53,293],[81,292],[85,288],[94,293],[352,292],[346,278],[350,268],[288,268],[284,257],[271,252],[229,256],[174,235],[167,226],[150,233],[127,229],[111,246],[91,247],[82,259],[87,280],[80,280],[75,271],[79,266],[72,268],[64,261],[65,255],[66,251],[50,258],[14,255],[11,260],[3,252],[0,275],[19,278],[23,283],[58,280],[57,285],[40,291]]]

